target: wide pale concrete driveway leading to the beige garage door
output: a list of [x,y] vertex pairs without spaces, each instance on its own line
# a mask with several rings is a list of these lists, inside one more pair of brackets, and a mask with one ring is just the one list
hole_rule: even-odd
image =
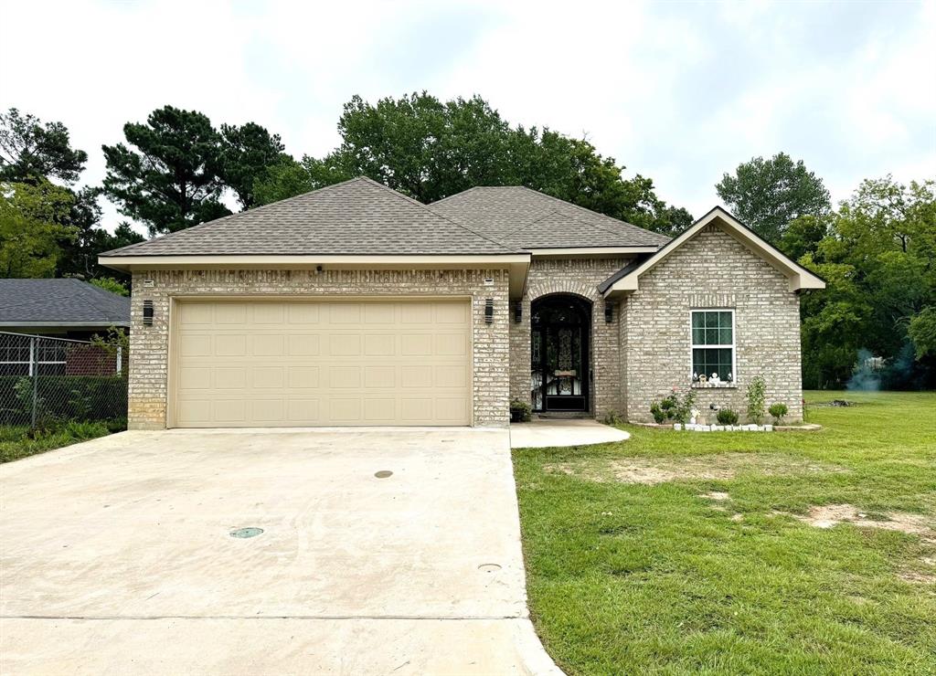
[[0,467],[0,547],[4,674],[555,669],[505,430],[125,432]]

